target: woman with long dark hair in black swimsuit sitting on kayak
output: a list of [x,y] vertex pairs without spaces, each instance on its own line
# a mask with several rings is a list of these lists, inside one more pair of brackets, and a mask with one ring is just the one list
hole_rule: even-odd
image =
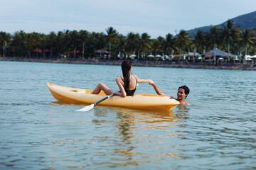
[[150,79],[139,79],[137,75],[131,75],[132,72],[132,62],[129,60],[125,60],[122,62],[122,77],[117,77],[115,79],[117,86],[119,87],[119,92],[112,91],[105,84],[98,84],[96,88],[92,91],[92,94],[99,94],[100,91],[104,91],[105,94],[110,95],[114,94],[117,96],[125,97],[125,96],[133,96],[136,91],[137,83],[154,83]]

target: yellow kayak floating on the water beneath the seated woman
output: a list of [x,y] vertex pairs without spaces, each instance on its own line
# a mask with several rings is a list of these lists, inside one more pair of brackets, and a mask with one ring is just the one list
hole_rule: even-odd
[[[49,83],[47,86],[55,99],[68,103],[92,104],[107,96],[103,91],[101,91],[100,94],[91,94],[92,90],[87,89],[70,88]],[[120,96],[112,96],[98,105],[171,111],[178,104],[178,101],[166,96],[134,94],[134,96],[126,96],[124,98]]]

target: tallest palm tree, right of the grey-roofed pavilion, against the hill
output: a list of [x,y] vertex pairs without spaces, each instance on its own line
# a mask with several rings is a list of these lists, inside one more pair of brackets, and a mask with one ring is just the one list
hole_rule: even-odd
[[225,26],[220,30],[220,36],[228,43],[228,55],[230,55],[230,43],[239,40],[240,28],[234,27],[235,22],[228,20]]

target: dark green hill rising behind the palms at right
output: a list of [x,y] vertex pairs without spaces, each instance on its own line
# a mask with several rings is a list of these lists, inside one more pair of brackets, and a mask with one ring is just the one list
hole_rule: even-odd
[[[256,30],[256,11],[252,13],[247,13],[242,16],[238,16],[235,18],[230,19],[231,21],[235,22],[235,26],[239,26],[242,30],[245,30],[247,28],[251,28],[253,30]],[[222,28],[222,26],[226,23],[220,23],[217,26],[217,28]],[[198,30],[203,30],[204,32],[208,33],[210,31],[210,26],[204,26],[200,28],[195,28],[193,30],[187,30],[189,35],[194,38],[193,33],[196,33]]]

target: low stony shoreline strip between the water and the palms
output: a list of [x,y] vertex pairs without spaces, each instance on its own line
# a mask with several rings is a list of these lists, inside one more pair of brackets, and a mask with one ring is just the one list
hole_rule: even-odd
[[[123,60],[79,60],[79,59],[38,59],[28,57],[0,57],[0,61],[13,62],[48,62],[48,63],[66,63],[66,64],[100,64],[100,65],[121,65]],[[171,61],[150,61],[150,60],[133,60],[133,66],[138,67],[169,67],[169,68],[186,68],[186,69],[230,69],[230,70],[254,70],[256,64],[249,63],[231,63],[219,62],[171,62]]]

